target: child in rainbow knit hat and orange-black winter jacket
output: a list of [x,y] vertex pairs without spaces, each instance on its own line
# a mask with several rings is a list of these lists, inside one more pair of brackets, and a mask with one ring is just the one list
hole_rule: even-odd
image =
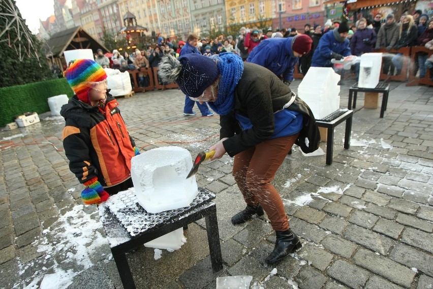
[[128,134],[117,100],[108,92],[107,74],[95,61],[72,61],[65,72],[75,95],[61,107],[63,145],[69,168],[85,188],[85,204],[100,204],[133,187],[131,158],[138,148]]

